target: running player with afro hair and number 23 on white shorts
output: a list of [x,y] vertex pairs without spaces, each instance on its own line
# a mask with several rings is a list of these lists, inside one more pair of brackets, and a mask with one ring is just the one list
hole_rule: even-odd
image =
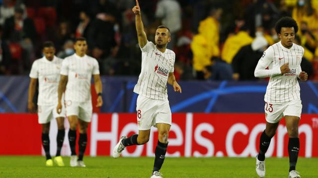
[[[265,153],[275,135],[279,121],[285,117],[289,135],[289,178],[300,178],[296,171],[299,153],[298,126],[302,113],[300,87],[297,81],[308,79],[300,64],[304,48],[294,44],[298,31],[297,23],[290,17],[281,18],[275,26],[280,42],[269,46],[259,59],[255,77],[270,77],[265,93],[266,129],[260,136],[259,153],[256,157],[256,173],[265,177]],[[269,70],[265,68],[268,67]]]

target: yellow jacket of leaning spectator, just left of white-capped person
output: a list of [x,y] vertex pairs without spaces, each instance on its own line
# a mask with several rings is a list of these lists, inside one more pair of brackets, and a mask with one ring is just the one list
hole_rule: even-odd
[[233,36],[227,38],[224,43],[221,57],[227,63],[231,64],[234,56],[238,53],[239,49],[244,45],[249,45],[253,42],[253,38],[244,31],[244,26],[242,29]]

